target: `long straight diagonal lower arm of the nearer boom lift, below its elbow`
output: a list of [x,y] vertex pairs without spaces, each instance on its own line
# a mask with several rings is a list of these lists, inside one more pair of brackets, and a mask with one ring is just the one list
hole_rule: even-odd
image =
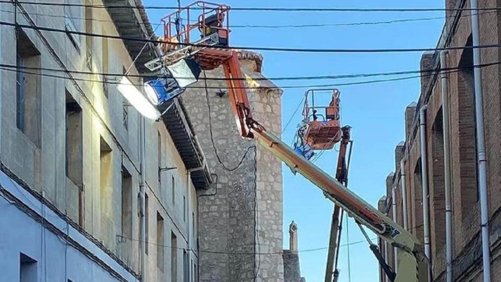
[[424,282],[427,280],[427,259],[419,240],[389,217],[372,207],[336,179],[309,162],[266,130],[253,130],[255,138],[272,154],[286,163],[293,172],[300,173],[350,217],[365,225],[398,249],[396,282]]

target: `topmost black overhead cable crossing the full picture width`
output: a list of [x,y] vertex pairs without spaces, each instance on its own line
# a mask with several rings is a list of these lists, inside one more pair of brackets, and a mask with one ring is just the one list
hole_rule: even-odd
[[[9,0],[1,0],[0,3],[10,3]],[[150,10],[178,10],[175,6],[130,6],[130,5],[85,5],[70,3],[50,3],[50,2],[27,2],[18,1],[18,4],[40,5],[40,6],[66,6],[66,7],[88,7],[96,9],[150,9]],[[190,7],[191,10],[201,10],[202,7]],[[499,11],[500,7],[486,8],[308,8],[308,7],[231,7],[233,11],[257,11],[257,12],[445,12],[445,11]]]

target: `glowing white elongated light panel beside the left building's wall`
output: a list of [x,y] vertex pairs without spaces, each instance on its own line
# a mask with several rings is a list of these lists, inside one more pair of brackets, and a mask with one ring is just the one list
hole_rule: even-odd
[[160,117],[160,112],[154,107],[148,99],[137,90],[130,80],[123,76],[120,84],[117,86],[118,91],[127,99],[127,101],[144,117],[157,120]]

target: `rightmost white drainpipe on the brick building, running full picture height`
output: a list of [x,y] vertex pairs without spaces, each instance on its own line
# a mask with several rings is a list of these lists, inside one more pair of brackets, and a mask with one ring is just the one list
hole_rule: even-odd
[[[473,46],[479,46],[478,28],[478,2],[470,0],[471,13],[471,37]],[[480,49],[473,49],[473,65],[480,64]],[[490,282],[490,250],[489,250],[489,210],[487,200],[487,171],[485,156],[485,140],[483,128],[483,95],[482,95],[482,72],[474,68],[475,79],[475,118],[476,118],[476,154],[478,159],[478,190],[480,192],[480,222],[482,228],[482,260],[483,282]]]

